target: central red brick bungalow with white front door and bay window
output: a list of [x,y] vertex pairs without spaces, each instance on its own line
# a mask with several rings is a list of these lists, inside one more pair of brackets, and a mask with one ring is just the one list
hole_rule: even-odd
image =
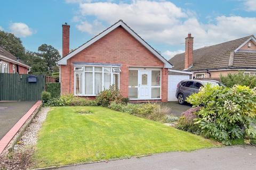
[[134,101],[167,101],[172,65],[122,20],[69,53],[62,25],[61,94],[95,97],[114,84]]

